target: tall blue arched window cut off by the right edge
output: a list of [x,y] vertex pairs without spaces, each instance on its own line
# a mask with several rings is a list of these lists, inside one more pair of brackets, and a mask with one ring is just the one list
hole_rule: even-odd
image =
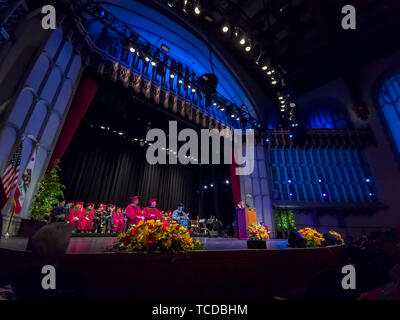
[[400,74],[391,76],[380,87],[379,106],[400,152]]

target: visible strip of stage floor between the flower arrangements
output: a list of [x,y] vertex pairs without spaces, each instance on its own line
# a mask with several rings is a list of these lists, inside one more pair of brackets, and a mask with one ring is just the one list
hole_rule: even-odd
[[[236,238],[198,238],[205,250],[247,250],[246,240]],[[117,241],[115,237],[90,237],[71,238],[67,253],[101,253],[112,247]],[[0,239],[0,248],[25,251],[28,243],[27,238]],[[271,239],[268,241],[270,250],[288,250],[286,239]]]

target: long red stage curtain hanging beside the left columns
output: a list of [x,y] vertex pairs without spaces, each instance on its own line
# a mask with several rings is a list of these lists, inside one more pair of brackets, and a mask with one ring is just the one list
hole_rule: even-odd
[[67,150],[72,137],[93,101],[98,87],[98,84],[89,78],[82,78],[80,81],[74,100],[69,109],[68,116],[65,119],[64,127],[61,130],[60,137],[58,138],[56,147],[54,148],[49,169],[52,168],[54,161],[61,159],[65,150]]

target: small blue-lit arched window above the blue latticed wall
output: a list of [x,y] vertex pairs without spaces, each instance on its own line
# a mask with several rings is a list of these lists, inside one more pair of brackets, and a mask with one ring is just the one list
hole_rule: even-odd
[[307,106],[304,125],[308,129],[345,129],[349,127],[346,108],[334,99],[319,99]]

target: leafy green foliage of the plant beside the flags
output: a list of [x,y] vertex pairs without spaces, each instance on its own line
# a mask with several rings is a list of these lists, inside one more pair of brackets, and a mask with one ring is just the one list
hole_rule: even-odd
[[65,186],[59,181],[59,160],[56,160],[53,169],[48,171],[39,183],[31,210],[31,219],[45,220],[51,206],[64,197]]

